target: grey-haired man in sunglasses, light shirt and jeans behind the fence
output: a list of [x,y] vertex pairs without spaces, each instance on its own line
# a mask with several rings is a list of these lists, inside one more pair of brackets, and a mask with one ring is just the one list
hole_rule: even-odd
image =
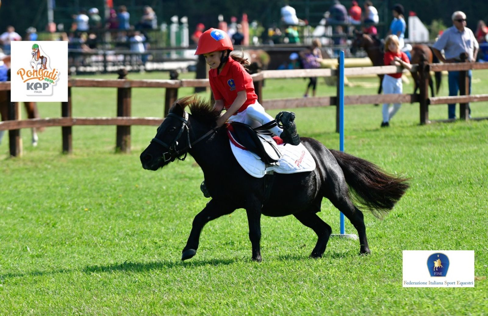
[[[460,55],[463,53],[468,54],[466,61],[476,61],[479,44],[473,32],[466,27],[466,14],[462,11],[456,11],[451,18],[453,25],[445,30],[432,46],[434,54],[444,63],[460,62]],[[442,56],[442,50],[444,50],[445,56]],[[457,95],[459,71],[449,71],[447,77],[449,80],[449,96]],[[468,71],[468,77],[469,93],[471,93],[471,70]],[[449,104],[447,113],[450,119],[456,118],[456,104]],[[469,109],[469,113],[471,113],[471,109]]]

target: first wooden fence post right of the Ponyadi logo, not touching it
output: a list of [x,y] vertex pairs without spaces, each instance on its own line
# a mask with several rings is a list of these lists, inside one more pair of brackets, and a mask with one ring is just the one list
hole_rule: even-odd
[[[126,79],[127,71],[119,70],[119,79]],[[131,116],[131,89],[117,88],[117,116]],[[130,126],[117,125],[116,151],[130,152]]]

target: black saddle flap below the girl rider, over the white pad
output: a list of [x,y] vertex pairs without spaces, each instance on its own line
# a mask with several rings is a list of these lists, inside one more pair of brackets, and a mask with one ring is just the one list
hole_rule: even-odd
[[258,134],[249,125],[231,122],[227,134],[234,145],[255,153],[266,164],[276,163],[282,156],[271,136]]

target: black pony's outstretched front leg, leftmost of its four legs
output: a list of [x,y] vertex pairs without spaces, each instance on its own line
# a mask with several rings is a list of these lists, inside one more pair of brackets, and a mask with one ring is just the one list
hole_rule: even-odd
[[197,253],[198,244],[200,242],[200,233],[206,223],[223,215],[230,214],[235,209],[235,207],[218,203],[214,199],[210,200],[203,210],[193,219],[190,236],[182,251],[182,260],[190,259]]

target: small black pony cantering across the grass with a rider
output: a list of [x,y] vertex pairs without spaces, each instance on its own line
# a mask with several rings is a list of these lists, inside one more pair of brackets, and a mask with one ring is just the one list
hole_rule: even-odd
[[[185,112],[189,105],[191,114]],[[234,158],[225,129],[214,130],[220,113],[193,96],[176,102],[158,128],[151,144],[142,152],[142,167],[158,170],[190,153],[203,170],[212,199],[193,220],[182,260],[193,257],[200,233],[209,221],[244,208],[249,223],[252,260],[261,261],[261,215],[293,215],[318,236],[310,257],[322,257],[332,229],[317,216],[323,197],[346,215],[358,231],[360,253],[368,254],[363,213],[352,203],[356,199],[376,216],[393,208],[408,188],[407,180],[391,176],[372,163],[349,154],[329,150],[312,138],[301,141],[315,159],[311,172],[275,174],[270,181],[247,174]],[[181,156],[183,156],[181,158]],[[266,186],[272,184],[270,190]]]

